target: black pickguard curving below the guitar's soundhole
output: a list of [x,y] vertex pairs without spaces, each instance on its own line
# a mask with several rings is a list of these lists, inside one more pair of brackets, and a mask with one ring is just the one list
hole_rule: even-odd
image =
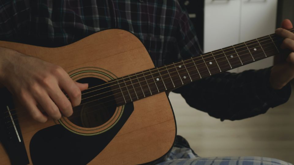
[[54,125],[38,131],[30,143],[33,164],[87,164],[115,137],[134,111],[126,104],[121,119],[110,130],[94,136],[82,136]]

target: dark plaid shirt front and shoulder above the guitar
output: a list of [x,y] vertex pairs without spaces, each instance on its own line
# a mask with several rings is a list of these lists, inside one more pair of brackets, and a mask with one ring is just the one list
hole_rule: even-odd
[[2,40],[63,46],[120,28],[144,43],[156,66],[177,60],[180,52],[187,57],[201,54],[188,16],[176,1],[2,0],[0,9]]

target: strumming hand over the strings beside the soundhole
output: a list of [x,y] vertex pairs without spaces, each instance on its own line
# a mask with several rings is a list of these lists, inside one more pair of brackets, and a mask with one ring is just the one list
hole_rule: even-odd
[[0,47],[0,54],[0,83],[33,119],[47,121],[41,108],[53,119],[59,119],[61,113],[69,117],[73,113],[72,106],[81,103],[81,91],[87,89],[88,84],[73,81],[61,67],[7,48]]

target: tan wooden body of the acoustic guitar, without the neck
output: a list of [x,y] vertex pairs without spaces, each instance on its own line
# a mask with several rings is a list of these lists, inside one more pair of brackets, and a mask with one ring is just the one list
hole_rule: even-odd
[[[108,82],[154,68],[141,41],[130,32],[119,29],[100,31],[58,48],[3,41],[0,41],[0,46],[57,64],[74,80],[94,77]],[[6,104],[1,103],[3,113],[7,111],[6,106],[14,108]],[[14,129],[1,130],[13,134],[10,141],[7,142],[10,135],[1,140],[1,164],[11,164],[10,159],[19,157],[9,154],[17,148],[5,145],[6,142],[23,143],[30,164],[156,163],[155,160],[160,161],[169,153],[176,135],[174,114],[165,92],[114,108],[113,115],[96,127],[84,128],[65,117],[38,123],[21,113],[23,111],[21,107],[11,111],[18,113],[13,115],[13,120],[17,118],[15,124],[19,128],[21,142],[17,140]],[[7,113],[2,116],[6,117]],[[5,123],[1,124],[5,129]]]

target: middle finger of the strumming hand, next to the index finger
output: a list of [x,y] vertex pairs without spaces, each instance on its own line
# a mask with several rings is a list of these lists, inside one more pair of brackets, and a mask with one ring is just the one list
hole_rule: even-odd
[[73,114],[73,108],[70,101],[61,91],[58,85],[53,86],[52,89],[48,89],[47,91],[51,99],[55,102],[60,112],[62,112],[64,116],[69,117]]

